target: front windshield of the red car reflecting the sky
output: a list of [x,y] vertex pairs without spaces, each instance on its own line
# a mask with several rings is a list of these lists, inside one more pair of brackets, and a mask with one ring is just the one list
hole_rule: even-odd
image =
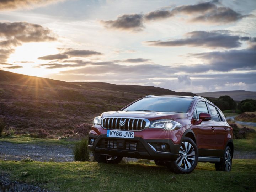
[[186,113],[193,98],[182,97],[147,97],[124,109],[124,111],[159,111]]

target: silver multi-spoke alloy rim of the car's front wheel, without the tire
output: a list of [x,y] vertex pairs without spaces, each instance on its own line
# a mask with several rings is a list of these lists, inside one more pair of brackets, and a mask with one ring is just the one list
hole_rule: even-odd
[[178,156],[176,162],[181,169],[190,169],[194,164],[196,154],[193,146],[188,142],[182,142],[180,146],[180,156]]

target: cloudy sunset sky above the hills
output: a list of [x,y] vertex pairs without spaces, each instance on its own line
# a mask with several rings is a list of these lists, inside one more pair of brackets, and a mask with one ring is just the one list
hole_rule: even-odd
[[256,91],[256,1],[0,0],[0,70]]

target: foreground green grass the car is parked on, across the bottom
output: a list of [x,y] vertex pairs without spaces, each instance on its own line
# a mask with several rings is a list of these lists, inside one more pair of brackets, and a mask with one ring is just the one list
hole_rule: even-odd
[[[256,187],[256,160],[234,160],[231,172],[199,163],[191,174],[149,164],[0,161],[12,180],[56,191],[246,191]],[[25,176],[22,172],[28,172]]]

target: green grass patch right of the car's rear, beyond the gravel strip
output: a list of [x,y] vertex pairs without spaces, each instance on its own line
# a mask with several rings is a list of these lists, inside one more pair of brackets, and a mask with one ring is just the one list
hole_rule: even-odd
[[256,151],[256,133],[249,133],[246,139],[233,139],[234,150]]

